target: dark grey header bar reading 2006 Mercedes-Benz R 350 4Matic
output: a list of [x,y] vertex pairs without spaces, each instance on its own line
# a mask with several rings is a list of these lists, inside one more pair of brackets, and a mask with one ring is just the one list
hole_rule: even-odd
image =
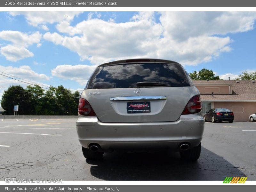
[[252,0],[1,0],[0,7],[256,7]]

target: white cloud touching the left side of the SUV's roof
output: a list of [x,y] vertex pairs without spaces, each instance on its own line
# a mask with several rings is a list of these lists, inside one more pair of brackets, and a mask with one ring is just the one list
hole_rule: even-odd
[[52,69],[52,76],[62,79],[71,79],[85,86],[96,65],[58,65]]

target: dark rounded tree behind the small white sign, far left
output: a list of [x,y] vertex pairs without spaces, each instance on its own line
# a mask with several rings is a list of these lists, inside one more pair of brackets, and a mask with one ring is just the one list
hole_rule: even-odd
[[13,106],[19,105],[19,115],[28,115],[30,108],[28,107],[29,93],[20,85],[12,85],[7,91],[4,91],[1,100],[1,106],[5,110],[5,115],[13,115]]

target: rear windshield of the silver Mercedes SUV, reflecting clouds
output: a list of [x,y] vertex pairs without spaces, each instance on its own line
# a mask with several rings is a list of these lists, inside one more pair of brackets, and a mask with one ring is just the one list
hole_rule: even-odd
[[167,87],[191,86],[180,65],[138,63],[96,68],[87,89],[134,88],[138,82],[156,82]]

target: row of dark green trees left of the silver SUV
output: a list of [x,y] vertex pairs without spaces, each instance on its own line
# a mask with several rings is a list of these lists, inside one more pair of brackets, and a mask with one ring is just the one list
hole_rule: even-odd
[[80,94],[72,93],[62,85],[45,92],[39,85],[10,86],[4,91],[1,106],[6,115],[13,115],[13,106],[19,105],[19,115],[77,115]]

